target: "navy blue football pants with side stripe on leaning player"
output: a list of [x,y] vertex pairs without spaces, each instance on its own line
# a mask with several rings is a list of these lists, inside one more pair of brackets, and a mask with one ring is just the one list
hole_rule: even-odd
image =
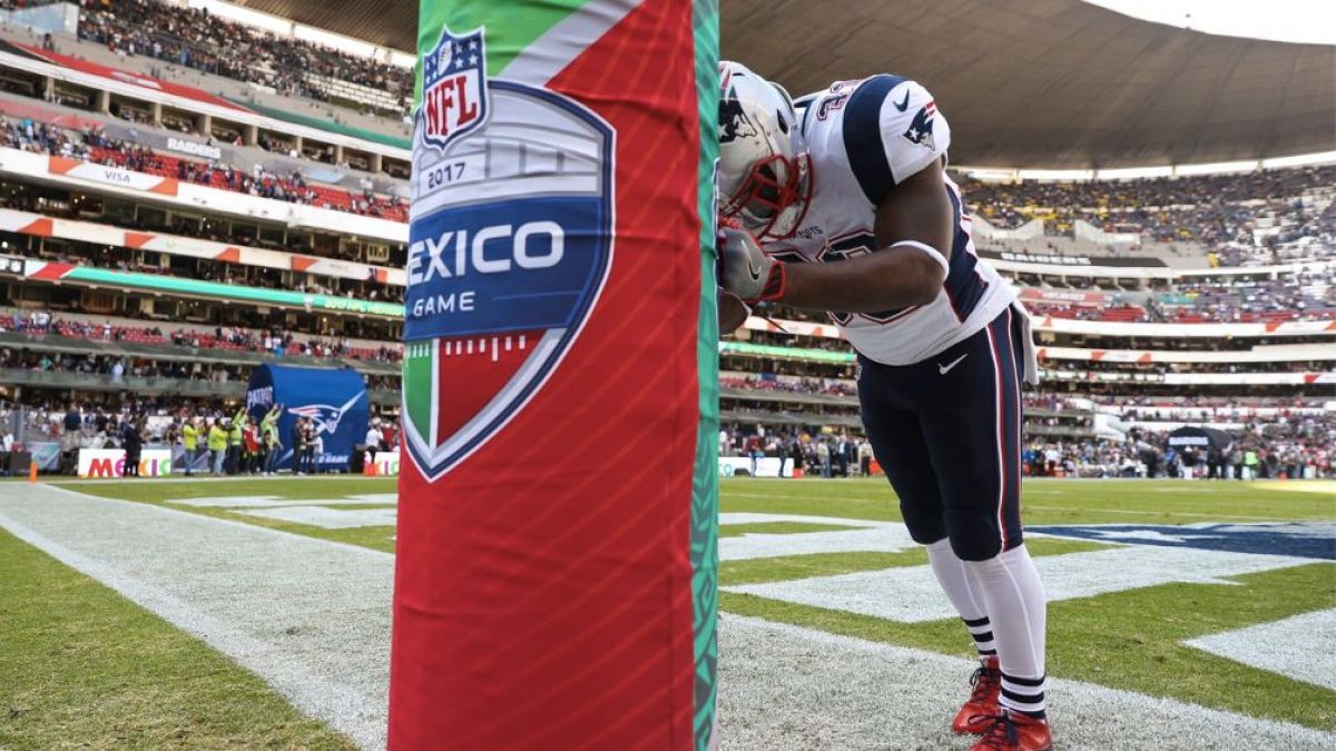
[[922,362],[859,355],[858,397],[910,536],[981,561],[1021,544],[1021,315]]

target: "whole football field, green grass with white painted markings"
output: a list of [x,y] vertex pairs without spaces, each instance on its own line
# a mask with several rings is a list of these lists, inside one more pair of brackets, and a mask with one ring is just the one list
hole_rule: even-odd
[[[393,480],[0,484],[0,748],[383,743]],[[1336,485],[1030,481],[1063,748],[1336,747]],[[967,747],[880,480],[720,490],[725,748]]]

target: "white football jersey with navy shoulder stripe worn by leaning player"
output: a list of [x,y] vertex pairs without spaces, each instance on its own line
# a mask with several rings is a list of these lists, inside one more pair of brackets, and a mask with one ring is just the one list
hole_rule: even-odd
[[[811,151],[811,204],[792,237],[767,243],[786,262],[839,262],[880,250],[872,235],[886,192],[951,146],[951,128],[915,82],[892,75],[836,82],[795,103]],[[931,305],[880,313],[830,311],[844,338],[884,365],[911,365],[969,338],[1015,299],[1015,289],[975,255],[961,190],[947,179],[955,208],[953,247],[938,249],[950,273]]]

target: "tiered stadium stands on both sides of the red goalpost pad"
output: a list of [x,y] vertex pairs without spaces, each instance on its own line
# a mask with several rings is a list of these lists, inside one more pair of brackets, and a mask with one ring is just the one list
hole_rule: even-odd
[[[411,84],[402,68],[158,0],[88,3],[79,36],[104,45],[126,69],[136,57],[150,57],[355,110],[402,114]],[[116,59],[103,53],[103,63]],[[226,412],[250,369],[275,357],[357,367],[393,393],[401,358],[397,321],[311,309],[273,293],[297,290],[349,305],[399,302],[406,233],[369,239],[338,222],[301,227],[261,218],[248,206],[211,206],[242,195],[402,223],[406,204],[397,195],[406,188],[381,179],[390,171],[389,158],[382,168],[370,158],[373,143],[357,142],[353,131],[343,135],[354,140],[341,140],[335,150],[333,135],[330,143],[309,138],[303,144],[282,128],[248,128],[246,115],[231,124],[210,122],[191,111],[191,102],[210,94],[182,94],[160,111],[130,99],[103,100],[107,107],[99,111],[96,88],[43,94],[40,80],[4,95],[3,147],[223,192],[159,206],[88,183],[64,184],[59,176],[37,183],[8,175],[0,179],[0,211],[25,214],[7,218],[0,257],[170,277],[182,285],[223,282],[263,294],[227,301],[179,285],[140,302],[128,277],[122,289],[77,278],[52,286],[29,273],[0,277],[0,305],[11,306],[0,318],[8,329],[0,333],[0,370],[23,373],[0,385],[0,400],[57,405],[75,394],[106,410],[134,404],[159,413],[196,406]],[[36,103],[35,96],[84,99],[71,108]],[[136,120],[138,130],[118,126],[126,119]],[[159,131],[198,134],[204,146],[222,138],[218,143],[231,151],[206,159],[166,150]],[[374,172],[374,184],[367,176],[358,186],[347,159],[369,176]],[[1299,466],[1291,474],[1303,466],[1331,472],[1333,425],[1320,405],[1336,397],[1336,166],[1132,180],[959,182],[978,219],[981,255],[1021,287],[1035,317],[1046,382],[1027,398],[1031,473],[1177,472],[1166,470],[1181,468],[1181,457],[1164,450],[1164,436],[1184,422],[1230,426],[1246,436],[1241,448],[1275,456],[1277,473],[1287,472],[1287,462]],[[1030,231],[1019,231],[1025,227]],[[41,326],[31,318],[36,311],[47,314]],[[862,470],[867,450],[859,438],[852,350],[823,315],[782,306],[758,313],[779,327],[755,318],[721,345],[727,450],[751,452],[760,437],[760,450],[771,456],[786,452],[828,465],[831,473],[840,473],[843,457],[847,472]],[[192,401],[172,404],[164,384]],[[191,390],[203,386],[215,389],[212,402]],[[1265,406],[1279,402],[1292,412]],[[1209,413],[1193,412],[1206,404],[1201,409]],[[1146,417],[1150,405],[1156,418]],[[385,408],[393,414],[393,400],[386,397]]]

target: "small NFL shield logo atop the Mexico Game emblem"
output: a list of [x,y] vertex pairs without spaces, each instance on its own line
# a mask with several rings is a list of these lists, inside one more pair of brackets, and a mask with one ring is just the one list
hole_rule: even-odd
[[488,119],[486,49],[482,29],[441,41],[422,57],[422,142],[445,150]]

